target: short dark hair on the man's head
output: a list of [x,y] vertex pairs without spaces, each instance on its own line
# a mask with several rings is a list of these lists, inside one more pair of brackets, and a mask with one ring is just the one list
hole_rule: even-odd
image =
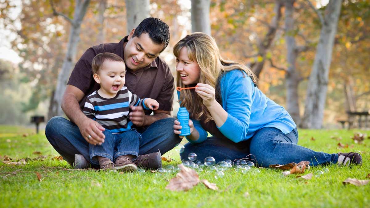
[[161,53],[167,47],[169,42],[169,27],[164,21],[155,17],[148,17],[142,20],[135,28],[132,37],[140,37],[142,33],[147,33],[155,44],[164,45]]

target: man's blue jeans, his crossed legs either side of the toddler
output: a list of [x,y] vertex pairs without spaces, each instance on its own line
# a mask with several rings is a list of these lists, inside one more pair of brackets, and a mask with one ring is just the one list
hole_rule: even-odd
[[[168,152],[181,142],[178,135],[174,134],[174,118],[165,118],[155,121],[145,128],[137,128],[142,140],[139,144],[138,155],[160,151]],[[71,121],[56,116],[51,118],[45,129],[45,135],[54,149],[73,165],[74,155],[81,154],[91,163],[89,144],[82,137],[80,129]],[[98,165],[92,164],[92,167]]]

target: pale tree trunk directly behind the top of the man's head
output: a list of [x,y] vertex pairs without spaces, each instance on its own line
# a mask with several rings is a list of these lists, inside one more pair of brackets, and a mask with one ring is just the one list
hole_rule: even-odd
[[137,27],[142,20],[150,17],[149,0],[126,0],[127,34]]

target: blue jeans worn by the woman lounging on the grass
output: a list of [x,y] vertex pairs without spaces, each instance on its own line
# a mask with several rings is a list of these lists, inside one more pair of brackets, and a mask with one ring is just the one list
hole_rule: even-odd
[[310,161],[310,165],[315,166],[338,161],[338,154],[315,152],[297,145],[297,142],[296,128],[284,134],[277,128],[265,127],[256,131],[249,140],[238,143],[217,137],[208,137],[207,140],[199,144],[187,143],[180,156],[182,160],[188,160],[188,154],[194,152],[199,161],[212,156],[218,162],[224,159],[247,158],[247,155],[251,154],[248,158],[256,159],[260,167],[300,161]]

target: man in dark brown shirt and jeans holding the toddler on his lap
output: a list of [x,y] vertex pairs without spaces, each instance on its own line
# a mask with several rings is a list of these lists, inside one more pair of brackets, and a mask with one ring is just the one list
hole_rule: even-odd
[[174,134],[171,118],[174,77],[159,54],[169,42],[169,27],[163,21],[149,17],[119,43],[100,44],[89,48],[77,61],[64,92],[61,107],[70,119],[53,117],[46,125],[46,137],[54,149],[75,168],[87,168],[88,144],[104,142],[105,129],[87,118],[81,109],[86,96],[99,89],[91,71],[92,59],[103,52],[115,53],[126,64],[125,86],[139,97],[158,101],[159,108],[145,111],[131,107],[129,118],[141,138],[139,156],[134,161],[138,167],[162,167],[161,152],[171,150],[181,139]]

